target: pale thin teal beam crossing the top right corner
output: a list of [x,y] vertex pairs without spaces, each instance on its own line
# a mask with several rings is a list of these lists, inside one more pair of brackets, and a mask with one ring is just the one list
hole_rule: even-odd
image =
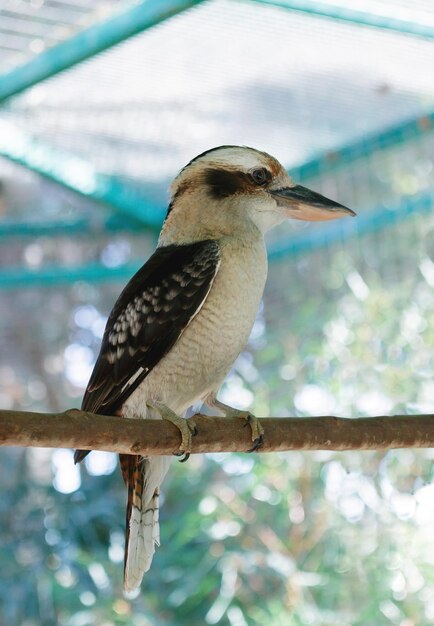
[[[336,6],[318,0],[251,0],[258,4],[298,11],[316,17],[325,17],[340,22],[356,24],[358,26],[370,26],[381,28],[402,35],[416,35],[426,39],[434,39],[434,28],[422,22],[413,22],[399,17],[379,15],[369,11],[360,11],[351,7]],[[348,3],[349,4],[349,3]]]

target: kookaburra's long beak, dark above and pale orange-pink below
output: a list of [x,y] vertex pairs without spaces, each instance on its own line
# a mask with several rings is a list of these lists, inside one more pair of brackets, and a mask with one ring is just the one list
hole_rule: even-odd
[[352,217],[356,215],[348,207],[329,200],[320,193],[311,191],[301,185],[284,187],[283,189],[270,189],[269,191],[277,201],[278,206],[285,209],[288,217],[296,220],[317,222],[334,220],[344,215],[351,215]]

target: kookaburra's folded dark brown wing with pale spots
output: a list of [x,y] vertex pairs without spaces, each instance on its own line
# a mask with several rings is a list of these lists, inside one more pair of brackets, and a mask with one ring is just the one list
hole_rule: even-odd
[[[114,415],[206,299],[220,264],[212,240],[157,248],[115,303],[82,409]],[[84,458],[77,451],[75,459]]]

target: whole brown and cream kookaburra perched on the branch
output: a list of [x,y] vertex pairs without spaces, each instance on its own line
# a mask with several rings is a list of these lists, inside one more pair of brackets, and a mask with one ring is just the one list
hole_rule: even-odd
[[[155,252],[108,318],[82,409],[122,418],[167,419],[188,457],[195,434],[186,411],[205,405],[250,424],[251,451],[264,430],[250,413],[217,399],[243,350],[267,277],[265,233],[287,218],[354,216],[296,184],[277,159],[246,146],[202,152],[176,176]],[[88,451],[77,450],[75,462]],[[120,455],[128,488],[124,589],[138,588],[159,545],[160,486],[172,457]]]

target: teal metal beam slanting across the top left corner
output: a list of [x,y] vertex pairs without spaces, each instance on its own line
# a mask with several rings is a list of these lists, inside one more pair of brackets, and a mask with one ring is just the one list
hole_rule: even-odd
[[204,0],[142,0],[0,75],[0,102]]

